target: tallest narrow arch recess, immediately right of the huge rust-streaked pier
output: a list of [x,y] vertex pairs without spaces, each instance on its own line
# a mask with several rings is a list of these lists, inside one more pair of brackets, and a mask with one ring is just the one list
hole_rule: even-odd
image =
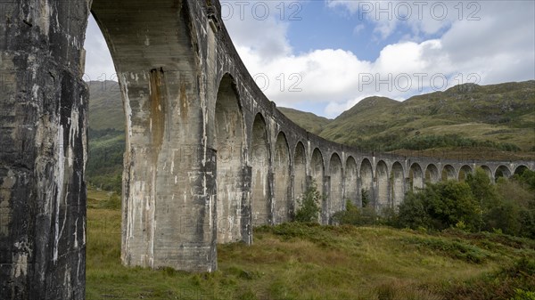
[[242,239],[244,123],[235,82],[229,75],[219,84],[214,118],[218,168],[218,243]]

